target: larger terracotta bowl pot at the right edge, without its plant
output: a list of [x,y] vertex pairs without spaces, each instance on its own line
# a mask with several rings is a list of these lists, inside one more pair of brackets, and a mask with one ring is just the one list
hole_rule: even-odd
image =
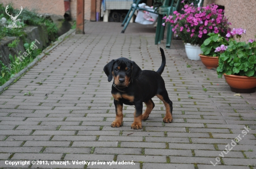
[[254,93],[256,91],[256,78],[241,75],[223,74],[232,92]]

